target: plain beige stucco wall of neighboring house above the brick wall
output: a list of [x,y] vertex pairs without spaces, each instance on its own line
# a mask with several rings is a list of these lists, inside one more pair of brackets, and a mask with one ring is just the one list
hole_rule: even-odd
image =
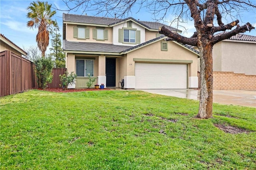
[[[221,41],[221,62],[213,55],[214,71],[234,72],[246,75],[256,75],[256,43]],[[217,45],[217,44],[216,44]],[[213,48],[213,53],[219,53],[219,46]],[[217,51],[217,52],[216,52]]]

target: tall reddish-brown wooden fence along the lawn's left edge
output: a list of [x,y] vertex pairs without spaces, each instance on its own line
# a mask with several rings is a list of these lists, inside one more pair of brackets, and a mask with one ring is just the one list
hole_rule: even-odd
[[0,53],[0,96],[34,88],[34,63],[11,51]]

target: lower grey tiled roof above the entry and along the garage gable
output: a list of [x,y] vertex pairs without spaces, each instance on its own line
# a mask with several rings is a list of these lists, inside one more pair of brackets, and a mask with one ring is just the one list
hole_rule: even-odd
[[[141,43],[133,47],[125,46],[125,45],[106,44],[106,43],[88,43],[88,42],[63,40],[63,50],[74,52],[74,53],[80,53],[80,51],[81,53],[84,53],[84,51],[87,51],[88,53],[91,53],[91,54],[95,54],[95,52],[98,52],[98,53],[104,53],[109,55],[122,55],[122,54],[129,53],[131,51],[137,50],[141,47],[145,47],[157,41],[161,41],[165,38],[166,36],[162,35],[160,37],[151,39],[149,41],[146,41],[144,43]],[[185,49],[188,49],[194,54],[199,55],[199,52],[193,49],[192,47],[188,45],[183,45],[176,41],[173,41],[173,42],[184,47]]]

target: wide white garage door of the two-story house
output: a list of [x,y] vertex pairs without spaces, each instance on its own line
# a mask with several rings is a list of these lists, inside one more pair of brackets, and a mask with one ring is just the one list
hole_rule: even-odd
[[135,88],[187,88],[186,64],[135,63]]

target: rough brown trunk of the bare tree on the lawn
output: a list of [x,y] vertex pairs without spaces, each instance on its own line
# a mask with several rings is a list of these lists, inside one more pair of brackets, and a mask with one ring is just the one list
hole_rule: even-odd
[[196,117],[207,119],[212,117],[213,69],[212,48],[207,40],[198,43],[200,51],[200,104]]

